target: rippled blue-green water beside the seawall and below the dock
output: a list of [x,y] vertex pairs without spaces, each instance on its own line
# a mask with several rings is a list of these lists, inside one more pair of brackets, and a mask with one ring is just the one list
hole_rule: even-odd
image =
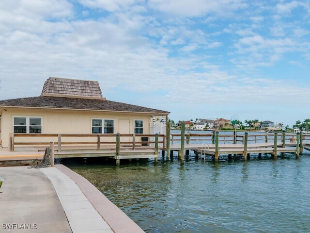
[[[161,156],[160,156],[161,157]],[[113,161],[114,162],[114,161]],[[63,160],[149,233],[310,232],[310,153],[173,160]],[[121,161],[122,163],[122,161]]]

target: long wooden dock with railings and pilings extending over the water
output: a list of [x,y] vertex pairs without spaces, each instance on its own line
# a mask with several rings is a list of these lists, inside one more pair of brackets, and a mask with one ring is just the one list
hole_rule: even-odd
[[[302,133],[260,133],[220,135],[214,133],[185,133],[182,124],[181,133],[164,134],[23,134],[12,133],[10,135],[10,150],[23,150],[32,148],[43,151],[51,147],[55,158],[74,157],[109,157],[120,164],[121,159],[158,159],[160,151],[169,160],[173,151],[178,152],[181,164],[184,163],[184,155],[189,155],[193,150],[196,157],[201,155],[214,157],[232,154],[248,158],[249,154],[267,153],[276,157],[278,153],[294,153],[296,158],[303,150],[310,150],[310,134]],[[19,138],[26,137],[25,140]],[[145,140],[147,139],[147,140]],[[21,152],[19,152],[21,153]]]

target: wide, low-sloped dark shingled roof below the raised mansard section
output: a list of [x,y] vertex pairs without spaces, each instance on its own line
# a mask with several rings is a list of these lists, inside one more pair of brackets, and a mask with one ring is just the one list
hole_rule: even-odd
[[0,100],[0,107],[31,107],[31,108],[59,108],[80,110],[101,110],[120,112],[140,112],[168,115],[170,112],[153,108],[140,107],[137,105],[114,102],[109,100],[93,100],[80,98],[39,96]]

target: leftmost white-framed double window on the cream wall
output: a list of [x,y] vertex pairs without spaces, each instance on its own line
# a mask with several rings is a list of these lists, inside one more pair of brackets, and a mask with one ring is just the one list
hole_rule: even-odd
[[13,119],[13,132],[42,133],[42,118],[15,116]]

